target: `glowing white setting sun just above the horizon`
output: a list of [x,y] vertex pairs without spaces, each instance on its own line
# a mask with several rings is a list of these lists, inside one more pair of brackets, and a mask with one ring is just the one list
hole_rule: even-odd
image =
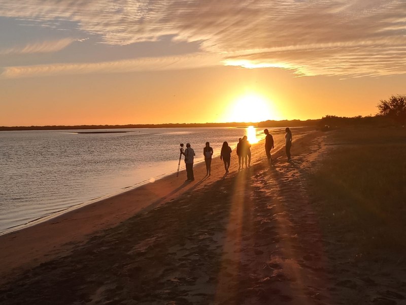
[[249,94],[235,100],[231,105],[229,120],[234,122],[260,122],[272,116],[269,102],[260,95]]

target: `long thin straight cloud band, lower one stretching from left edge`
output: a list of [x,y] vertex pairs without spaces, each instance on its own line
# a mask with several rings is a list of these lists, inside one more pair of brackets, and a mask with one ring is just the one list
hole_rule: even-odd
[[221,58],[216,54],[190,54],[183,56],[148,57],[133,60],[92,64],[53,64],[36,66],[6,67],[0,70],[0,78],[22,78],[32,76],[53,76],[91,73],[123,73],[138,71],[167,71],[195,69],[219,65]]

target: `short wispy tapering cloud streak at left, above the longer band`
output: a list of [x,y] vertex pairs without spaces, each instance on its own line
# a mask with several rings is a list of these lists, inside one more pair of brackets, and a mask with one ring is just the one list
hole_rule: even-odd
[[0,48],[0,55],[56,52],[69,46],[74,41],[75,39],[65,38],[54,41],[42,41],[37,43],[30,43],[24,46],[17,46],[7,49]]

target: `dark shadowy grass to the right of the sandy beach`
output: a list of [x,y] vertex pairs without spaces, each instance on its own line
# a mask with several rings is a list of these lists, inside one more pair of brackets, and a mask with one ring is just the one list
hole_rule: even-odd
[[349,128],[326,135],[331,149],[310,179],[325,233],[366,255],[404,250],[406,130]]

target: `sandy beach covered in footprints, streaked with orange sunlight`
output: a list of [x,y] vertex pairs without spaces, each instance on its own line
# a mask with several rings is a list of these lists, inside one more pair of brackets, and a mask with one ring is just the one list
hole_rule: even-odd
[[284,132],[273,135],[275,166],[260,142],[249,168],[233,151],[227,175],[215,158],[210,177],[198,164],[193,182],[170,175],[0,236],[0,302],[346,304],[357,291],[356,303],[404,302],[401,284],[336,270],[342,245],[322,231],[306,181],[326,134],[293,129],[291,163]]

